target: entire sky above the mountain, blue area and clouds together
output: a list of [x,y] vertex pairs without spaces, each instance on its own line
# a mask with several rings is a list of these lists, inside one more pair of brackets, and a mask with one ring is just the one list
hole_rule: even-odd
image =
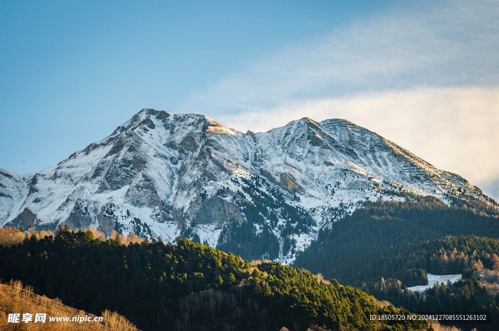
[[2,1],[0,167],[54,165],[142,108],[255,131],[345,117],[499,196],[498,15],[495,1]]

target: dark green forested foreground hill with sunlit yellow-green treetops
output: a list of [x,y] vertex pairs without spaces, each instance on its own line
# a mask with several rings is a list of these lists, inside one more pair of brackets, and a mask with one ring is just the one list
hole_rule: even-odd
[[0,245],[0,265],[3,279],[90,313],[115,310],[144,330],[429,330],[370,321],[397,310],[353,287],[183,238],[125,246],[119,236],[103,241],[60,228],[55,238]]

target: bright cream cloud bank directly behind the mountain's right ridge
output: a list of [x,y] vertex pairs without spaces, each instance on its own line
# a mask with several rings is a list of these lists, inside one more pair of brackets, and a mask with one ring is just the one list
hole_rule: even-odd
[[293,102],[218,119],[242,131],[266,131],[304,116],[348,119],[499,198],[499,88],[371,93]]

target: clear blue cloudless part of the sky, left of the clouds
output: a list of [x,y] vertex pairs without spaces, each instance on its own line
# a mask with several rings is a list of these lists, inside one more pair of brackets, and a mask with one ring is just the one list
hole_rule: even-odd
[[183,106],[253,59],[391,5],[1,1],[0,166],[39,171],[142,108],[203,112]]

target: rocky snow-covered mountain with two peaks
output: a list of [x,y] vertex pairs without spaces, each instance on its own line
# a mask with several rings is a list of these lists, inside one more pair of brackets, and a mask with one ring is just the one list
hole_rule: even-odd
[[0,225],[182,235],[290,263],[328,222],[366,200],[403,199],[401,190],[488,200],[347,120],[304,117],[242,133],[204,115],[144,109],[54,167],[0,169]]

